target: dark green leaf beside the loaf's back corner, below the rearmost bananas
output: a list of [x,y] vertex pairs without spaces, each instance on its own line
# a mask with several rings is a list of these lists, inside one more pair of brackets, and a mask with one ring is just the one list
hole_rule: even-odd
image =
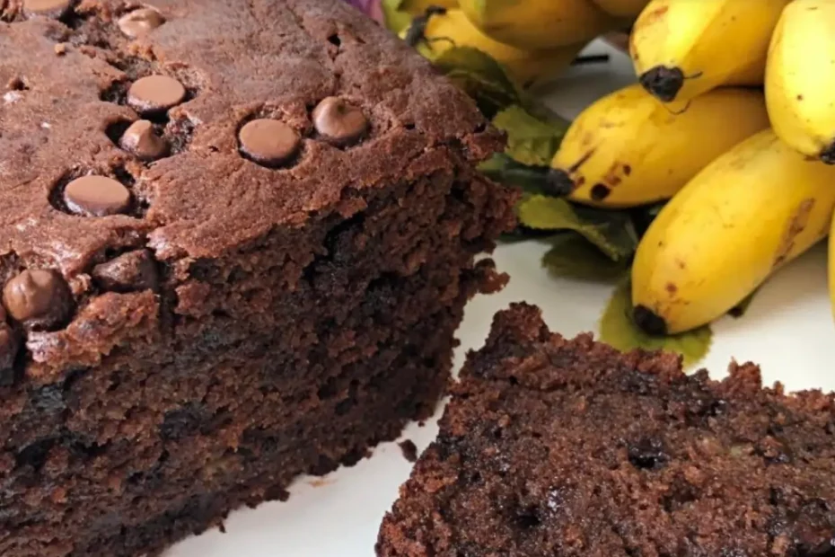
[[468,93],[488,118],[519,102],[519,92],[502,66],[479,49],[449,49],[435,58],[435,66]]

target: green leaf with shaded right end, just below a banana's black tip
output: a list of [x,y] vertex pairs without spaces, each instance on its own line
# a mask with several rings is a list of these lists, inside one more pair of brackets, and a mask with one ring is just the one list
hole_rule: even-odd
[[632,220],[622,211],[577,207],[565,199],[525,194],[516,204],[519,222],[538,230],[573,230],[612,261],[628,260],[637,248]]

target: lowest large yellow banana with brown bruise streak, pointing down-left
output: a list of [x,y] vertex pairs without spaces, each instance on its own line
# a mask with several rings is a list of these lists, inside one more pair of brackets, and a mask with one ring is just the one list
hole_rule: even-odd
[[632,266],[633,319],[688,331],[742,301],[830,230],[835,167],[761,131],[709,164],[661,210]]

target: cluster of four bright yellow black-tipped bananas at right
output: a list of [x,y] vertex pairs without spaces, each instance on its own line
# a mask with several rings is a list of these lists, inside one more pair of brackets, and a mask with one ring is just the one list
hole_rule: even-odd
[[[672,197],[637,248],[633,320],[685,332],[835,232],[835,0],[651,0],[629,54],[640,87],[680,115],[656,128],[636,93],[628,109],[596,103],[569,130],[551,182],[611,207]],[[740,86],[764,88],[768,120],[708,110]],[[629,128],[639,111],[644,123]],[[624,160],[639,161],[628,176]],[[830,261],[835,314],[835,242]]]

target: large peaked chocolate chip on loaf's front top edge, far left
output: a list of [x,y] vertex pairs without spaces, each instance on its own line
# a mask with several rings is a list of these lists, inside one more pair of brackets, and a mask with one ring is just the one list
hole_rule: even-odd
[[69,317],[73,295],[57,272],[24,270],[5,284],[3,305],[15,321],[51,329]]

